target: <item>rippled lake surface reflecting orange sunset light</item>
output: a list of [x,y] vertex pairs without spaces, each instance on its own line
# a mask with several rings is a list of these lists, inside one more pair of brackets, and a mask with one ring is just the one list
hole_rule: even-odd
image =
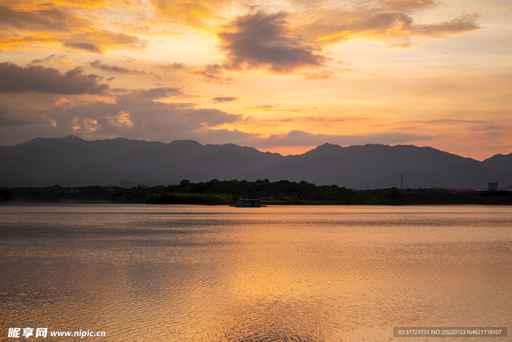
[[512,340],[393,338],[512,327],[510,206],[8,203],[0,237],[0,340]]

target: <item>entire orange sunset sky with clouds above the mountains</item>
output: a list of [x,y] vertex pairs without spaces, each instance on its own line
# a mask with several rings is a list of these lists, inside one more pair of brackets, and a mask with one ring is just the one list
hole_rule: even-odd
[[1,0],[0,145],[512,152],[510,0]]

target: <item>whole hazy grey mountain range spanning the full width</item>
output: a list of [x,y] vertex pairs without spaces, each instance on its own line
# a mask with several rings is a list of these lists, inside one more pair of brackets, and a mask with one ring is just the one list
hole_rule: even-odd
[[218,180],[305,180],[355,189],[512,188],[512,153],[484,161],[432,147],[323,144],[302,155],[282,156],[235,144],[168,144],[125,138],[86,141],[76,136],[35,138],[0,146],[0,186],[130,187]]

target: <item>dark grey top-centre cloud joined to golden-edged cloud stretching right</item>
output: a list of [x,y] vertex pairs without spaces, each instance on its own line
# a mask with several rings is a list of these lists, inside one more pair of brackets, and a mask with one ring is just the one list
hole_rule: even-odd
[[302,20],[308,24],[296,21],[295,26],[288,22],[286,12],[258,11],[237,17],[218,33],[219,47],[226,60],[191,73],[201,75],[203,81],[216,83],[226,82],[225,71],[247,69],[280,74],[300,70],[309,79],[328,79],[353,72],[327,66],[331,58],[322,49],[339,41],[375,39],[387,42],[390,48],[408,49],[419,45],[414,40],[444,38],[481,28],[475,14],[448,22],[416,24],[413,16],[419,10],[437,6],[432,0],[357,2],[344,9],[325,5],[311,5],[311,12]]

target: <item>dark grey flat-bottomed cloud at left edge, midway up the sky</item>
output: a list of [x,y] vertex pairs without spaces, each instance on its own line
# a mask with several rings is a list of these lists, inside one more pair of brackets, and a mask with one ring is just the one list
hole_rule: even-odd
[[53,68],[19,67],[13,63],[0,63],[0,92],[39,92],[46,94],[100,94],[109,89],[103,78],[83,74],[80,67],[61,74]]

